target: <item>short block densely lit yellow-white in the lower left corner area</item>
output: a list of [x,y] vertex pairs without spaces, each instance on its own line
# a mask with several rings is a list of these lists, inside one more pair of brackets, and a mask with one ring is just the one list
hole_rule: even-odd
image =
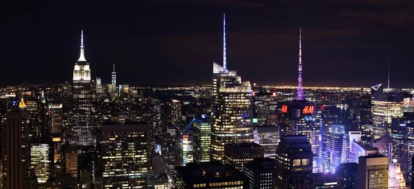
[[44,184],[50,178],[52,164],[50,158],[50,145],[33,143],[30,144],[30,168],[34,170],[39,184]]

